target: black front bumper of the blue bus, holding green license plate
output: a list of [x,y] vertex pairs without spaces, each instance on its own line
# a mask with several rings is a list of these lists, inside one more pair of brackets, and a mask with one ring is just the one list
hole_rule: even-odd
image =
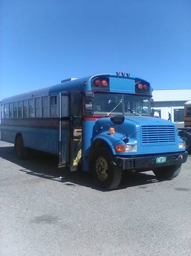
[[187,151],[134,157],[131,155],[129,158],[116,156],[114,158],[114,164],[122,168],[122,170],[152,170],[152,168],[185,163],[187,157]]

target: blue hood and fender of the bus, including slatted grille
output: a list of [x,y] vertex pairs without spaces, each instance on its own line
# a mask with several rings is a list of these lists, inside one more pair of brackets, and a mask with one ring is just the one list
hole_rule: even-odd
[[[110,127],[114,128],[114,134],[109,133]],[[110,117],[97,119],[93,140],[96,138],[107,141],[113,150],[116,144],[124,144],[124,139],[128,138],[128,143],[138,145],[134,155],[180,151],[176,124],[155,117],[126,116],[121,125],[114,125]],[[126,155],[132,152],[117,154]]]

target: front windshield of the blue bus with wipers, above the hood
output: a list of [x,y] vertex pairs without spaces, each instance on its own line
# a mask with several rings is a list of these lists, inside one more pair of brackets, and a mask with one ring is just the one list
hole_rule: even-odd
[[[118,106],[117,106],[118,105]],[[116,108],[117,106],[117,108]],[[116,108],[116,109],[114,109]],[[114,111],[112,112],[112,110]],[[94,93],[94,114],[150,114],[150,97],[118,93]]]

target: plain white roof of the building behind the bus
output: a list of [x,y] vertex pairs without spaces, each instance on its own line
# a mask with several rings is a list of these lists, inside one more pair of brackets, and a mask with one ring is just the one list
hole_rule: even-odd
[[156,101],[189,101],[191,89],[153,90],[152,98]]

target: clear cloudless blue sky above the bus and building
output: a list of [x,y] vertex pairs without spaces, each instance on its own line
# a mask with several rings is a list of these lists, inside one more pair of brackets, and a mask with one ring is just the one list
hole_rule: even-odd
[[191,88],[191,1],[0,0],[0,100],[116,71]]

